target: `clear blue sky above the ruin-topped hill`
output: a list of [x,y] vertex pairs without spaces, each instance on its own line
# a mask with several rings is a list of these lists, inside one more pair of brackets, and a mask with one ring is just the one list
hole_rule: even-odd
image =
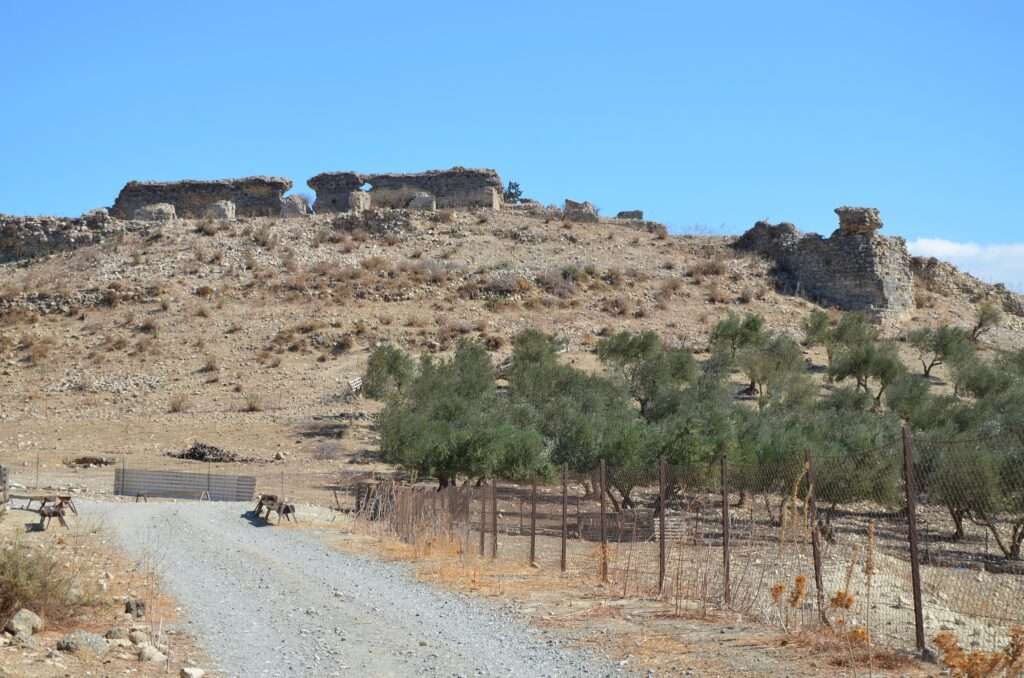
[[984,0],[0,0],[0,212],[133,178],[487,166],[676,231],[876,206],[915,251],[1024,285],[1022,26]]

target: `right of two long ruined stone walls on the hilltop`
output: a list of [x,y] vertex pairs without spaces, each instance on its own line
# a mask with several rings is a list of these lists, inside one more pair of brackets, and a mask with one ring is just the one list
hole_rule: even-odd
[[[500,209],[502,179],[493,169],[431,170],[413,174],[325,172],[307,182],[316,192],[316,212],[344,212],[370,207]],[[364,186],[369,184],[369,190]]]

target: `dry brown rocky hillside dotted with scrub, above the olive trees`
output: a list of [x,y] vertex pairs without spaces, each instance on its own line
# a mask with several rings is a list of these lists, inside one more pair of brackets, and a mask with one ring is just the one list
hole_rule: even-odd
[[[203,439],[330,463],[324,444],[373,448],[369,429],[310,430],[352,409],[333,396],[378,342],[435,352],[473,337],[498,362],[512,336],[539,327],[590,366],[608,331],[651,329],[699,352],[730,311],[799,335],[816,307],[777,292],[775,264],[734,239],[537,206],[76,227],[71,249],[34,259],[8,249],[15,260],[0,265],[0,444],[10,450],[154,454]],[[914,270],[916,307],[886,320],[892,336],[969,325],[977,303],[1005,299],[947,264]],[[1024,345],[1024,319],[1008,313],[986,341]]]

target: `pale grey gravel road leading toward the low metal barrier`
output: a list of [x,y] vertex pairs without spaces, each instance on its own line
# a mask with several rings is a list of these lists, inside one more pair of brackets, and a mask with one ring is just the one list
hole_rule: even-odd
[[[83,503],[84,504],[84,503]],[[227,676],[611,676],[507,607],[416,582],[408,567],[263,526],[248,504],[88,503],[152,557]]]

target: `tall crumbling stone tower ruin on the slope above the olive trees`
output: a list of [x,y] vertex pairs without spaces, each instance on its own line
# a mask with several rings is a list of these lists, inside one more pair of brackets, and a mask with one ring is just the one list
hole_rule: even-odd
[[791,223],[759,221],[736,241],[739,250],[773,259],[793,292],[844,310],[900,313],[913,307],[913,273],[906,243],[885,238],[878,210],[836,210],[840,228],[829,238],[804,235]]

